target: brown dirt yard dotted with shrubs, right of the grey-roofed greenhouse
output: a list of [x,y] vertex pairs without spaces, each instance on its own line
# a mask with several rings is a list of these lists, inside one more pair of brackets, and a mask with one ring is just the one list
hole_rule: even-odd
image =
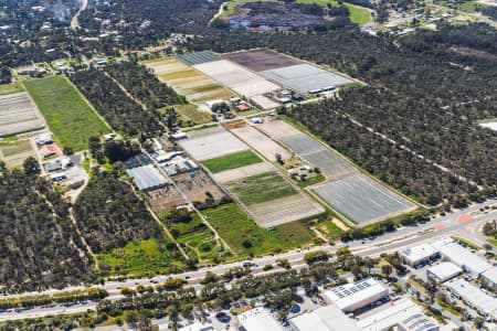
[[178,188],[190,201],[204,202],[207,193],[211,193],[214,200],[220,200],[223,192],[202,171],[182,173],[172,178]]

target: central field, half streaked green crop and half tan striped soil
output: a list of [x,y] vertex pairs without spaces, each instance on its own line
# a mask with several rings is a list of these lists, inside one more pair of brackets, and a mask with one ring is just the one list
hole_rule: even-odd
[[325,212],[274,171],[240,178],[225,185],[262,227],[273,227]]

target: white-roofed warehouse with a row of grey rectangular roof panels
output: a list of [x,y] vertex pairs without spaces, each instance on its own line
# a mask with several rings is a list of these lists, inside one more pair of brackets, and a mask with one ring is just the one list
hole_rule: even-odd
[[373,278],[335,287],[325,296],[345,312],[371,305],[389,295],[388,289]]

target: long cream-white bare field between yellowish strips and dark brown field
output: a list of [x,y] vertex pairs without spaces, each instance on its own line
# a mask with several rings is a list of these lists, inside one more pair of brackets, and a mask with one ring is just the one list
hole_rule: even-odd
[[276,84],[228,60],[203,63],[193,67],[241,96],[253,97],[279,89]]

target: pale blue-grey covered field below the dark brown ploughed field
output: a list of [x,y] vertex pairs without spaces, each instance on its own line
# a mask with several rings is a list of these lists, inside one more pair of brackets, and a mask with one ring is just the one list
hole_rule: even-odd
[[346,77],[332,74],[310,64],[297,64],[265,71],[262,75],[267,79],[302,94],[330,86],[343,86],[353,83]]

